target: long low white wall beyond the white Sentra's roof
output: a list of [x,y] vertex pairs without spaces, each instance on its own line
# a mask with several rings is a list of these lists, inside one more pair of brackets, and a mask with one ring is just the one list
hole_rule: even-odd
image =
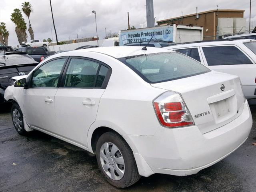
[[[98,40],[99,46],[102,45],[104,42],[104,39]],[[97,45],[97,41],[87,41],[87,42],[81,42],[81,43],[71,43],[71,44],[64,44],[64,45],[53,45],[53,46],[48,46],[49,51],[59,51],[59,50],[74,50],[80,46],[84,45]]]

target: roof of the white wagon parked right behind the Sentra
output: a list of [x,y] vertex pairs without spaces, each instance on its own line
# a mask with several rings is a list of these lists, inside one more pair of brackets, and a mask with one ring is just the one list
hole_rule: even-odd
[[185,47],[196,47],[196,46],[208,46],[208,45],[234,45],[241,44],[244,42],[256,41],[252,39],[236,39],[236,40],[212,40],[212,41],[201,41],[201,42],[186,42],[180,44],[173,44],[164,49],[174,49],[174,48],[185,48]]

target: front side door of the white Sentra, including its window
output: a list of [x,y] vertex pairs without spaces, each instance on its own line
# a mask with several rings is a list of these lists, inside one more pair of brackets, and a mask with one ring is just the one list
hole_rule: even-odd
[[23,91],[27,123],[38,129],[52,131],[56,126],[55,94],[68,58],[55,58],[33,71],[28,88]]

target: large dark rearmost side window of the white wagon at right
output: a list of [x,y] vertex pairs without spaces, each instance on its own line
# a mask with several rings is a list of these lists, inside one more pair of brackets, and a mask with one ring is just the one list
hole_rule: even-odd
[[250,59],[235,46],[203,47],[202,49],[209,66],[252,64]]

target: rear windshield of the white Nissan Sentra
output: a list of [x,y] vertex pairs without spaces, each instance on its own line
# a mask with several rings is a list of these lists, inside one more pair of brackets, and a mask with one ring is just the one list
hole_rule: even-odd
[[211,70],[178,52],[144,54],[119,58],[148,83],[176,80]]

